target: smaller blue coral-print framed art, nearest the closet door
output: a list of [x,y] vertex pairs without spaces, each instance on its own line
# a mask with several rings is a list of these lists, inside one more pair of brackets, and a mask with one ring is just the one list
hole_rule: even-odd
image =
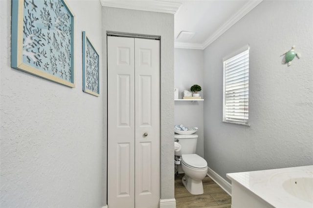
[[99,54],[83,31],[83,91],[99,96]]

